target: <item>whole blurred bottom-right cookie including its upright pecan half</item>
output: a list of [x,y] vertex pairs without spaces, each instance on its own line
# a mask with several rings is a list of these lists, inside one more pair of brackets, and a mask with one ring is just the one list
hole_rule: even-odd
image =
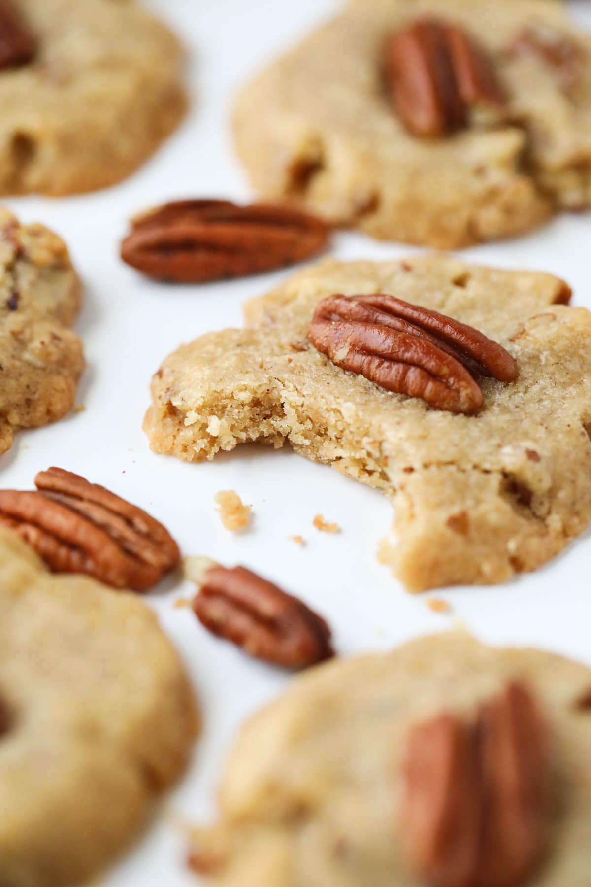
[[461,632],[307,671],[239,735],[194,865],[219,887],[587,887],[590,688]]

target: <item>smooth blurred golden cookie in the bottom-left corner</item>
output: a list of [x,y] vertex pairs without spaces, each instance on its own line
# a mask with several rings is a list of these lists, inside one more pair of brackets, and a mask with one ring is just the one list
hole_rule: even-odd
[[81,883],[183,772],[191,687],[152,610],[0,531],[0,882]]

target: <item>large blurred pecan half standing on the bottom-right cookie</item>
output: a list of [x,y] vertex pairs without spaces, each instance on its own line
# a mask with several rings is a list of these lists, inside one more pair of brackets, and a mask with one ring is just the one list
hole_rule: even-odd
[[548,726],[511,682],[472,722],[414,727],[404,767],[408,861],[429,887],[518,887],[540,865],[552,815]]

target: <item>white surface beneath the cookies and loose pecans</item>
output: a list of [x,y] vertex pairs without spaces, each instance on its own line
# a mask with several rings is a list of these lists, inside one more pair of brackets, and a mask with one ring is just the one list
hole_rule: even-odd
[[[178,539],[183,553],[243,563],[305,598],[327,616],[341,654],[385,649],[461,620],[494,643],[533,643],[591,664],[589,558],[591,534],[533,576],[497,588],[439,594],[453,616],[433,614],[375,560],[391,522],[385,498],[285,448],[248,447],[205,465],[157,457],[141,424],[148,383],[181,341],[240,324],[240,305],[274,287],[291,271],[207,287],[171,287],[142,279],[123,265],[118,243],[126,219],[160,200],[190,196],[249,196],[232,153],[229,108],[238,84],[257,67],[338,7],[337,0],[152,0],[191,51],[192,112],[182,130],[135,177],[105,192],[67,200],[7,200],[19,216],[58,231],[86,283],[77,330],[89,368],[78,402],[86,410],[51,428],[19,433],[0,459],[2,483],[27,489],[35,473],[58,465],[88,477],[148,509]],[[584,4],[575,10],[587,17]],[[567,279],[575,304],[591,308],[591,217],[564,216],[525,239],[478,247],[470,260],[543,269]],[[385,259],[412,252],[359,234],[339,234],[340,258]],[[568,453],[564,454],[568,458]],[[214,493],[236,489],[252,503],[252,530],[236,537],[214,512]],[[339,536],[312,526],[318,512],[342,527]],[[301,534],[307,547],[288,540]],[[214,812],[222,761],[243,719],[281,691],[281,671],[253,663],[206,634],[186,608],[173,608],[189,585],[168,583],[148,597],[180,648],[201,696],[205,730],[183,784],[127,860],[102,887],[184,887],[195,884],[183,860],[175,822]]]

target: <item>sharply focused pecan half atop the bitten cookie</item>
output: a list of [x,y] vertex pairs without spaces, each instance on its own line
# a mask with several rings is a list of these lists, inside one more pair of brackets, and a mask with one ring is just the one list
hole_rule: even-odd
[[478,376],[517,379],[515,361],[497,342],[392,295],[330,295],[317,305],[308,337],[343,369],[440,410],[478,412]]

